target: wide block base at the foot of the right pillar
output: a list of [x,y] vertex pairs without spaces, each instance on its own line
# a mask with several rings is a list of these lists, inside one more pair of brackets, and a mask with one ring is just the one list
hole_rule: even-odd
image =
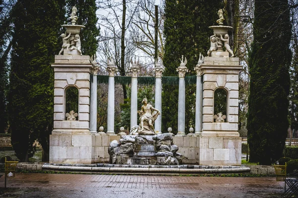
[[199,137],[199,147],[200,165],[241,165],[239,137]]

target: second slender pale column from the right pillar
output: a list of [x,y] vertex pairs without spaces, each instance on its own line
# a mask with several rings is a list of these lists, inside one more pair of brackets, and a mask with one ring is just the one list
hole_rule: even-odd
[[188,72],[185,66],[187,60],[183,62],[183,55],[180,66],[176,69],[179,72],[179,96],[178,96],[178,133],[176,136],[185,136],[185,73]]

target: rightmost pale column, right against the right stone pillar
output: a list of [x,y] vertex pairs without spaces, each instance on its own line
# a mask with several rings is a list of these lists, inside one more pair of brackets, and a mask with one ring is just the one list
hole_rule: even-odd
[[203,128],[203,84],[201,65],[197,64],[194,70],[197,72],[195,135],[200,136]]

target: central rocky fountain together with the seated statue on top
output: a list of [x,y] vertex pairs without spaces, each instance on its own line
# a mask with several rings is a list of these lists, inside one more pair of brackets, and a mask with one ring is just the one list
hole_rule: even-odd
[[[153,122],[159,115],[155,109],[143,99],[140,114],[140,126],[133,127],[130,135],[122,136],[110,143],[108,152],[111,164],[141,165],[178,165],[182,163],[182,155],[173,144],[172,133],[155,134]],[[156,111],[156,113],[154,113]],[[169,131],[170,132],[170,131]]]

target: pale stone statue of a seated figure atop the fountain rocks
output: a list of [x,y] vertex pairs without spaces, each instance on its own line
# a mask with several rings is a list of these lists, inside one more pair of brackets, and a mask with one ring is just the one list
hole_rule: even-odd
[[[149,104],[147,98],[143,99],[142,103],[142,108],[140,111],[138,111],[141,122],[138,133],[140,135],[154,135],[155,130],[153,123],[160,114],[160,111]],[[154,111],[157,112],[154,114]]]

